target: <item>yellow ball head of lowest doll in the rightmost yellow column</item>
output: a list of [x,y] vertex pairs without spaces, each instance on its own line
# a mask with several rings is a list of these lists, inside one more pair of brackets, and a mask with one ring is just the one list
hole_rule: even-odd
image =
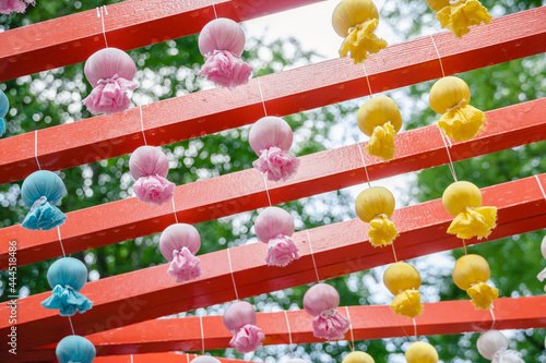
[[467,290],[474,283],[487,282],[491,276],[489,264],[479,255],[464,255],[460,257],[453,268],[453,281],[462,289]]

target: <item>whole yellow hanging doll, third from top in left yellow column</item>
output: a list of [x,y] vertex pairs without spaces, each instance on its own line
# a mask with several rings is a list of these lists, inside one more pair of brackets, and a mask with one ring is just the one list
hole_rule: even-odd
[[394,211],[394,196],[382,186],[371,186],[356,197],[358,218],[370,223],[368,237],[373,246],[389,245],[399,235],[390,220]]

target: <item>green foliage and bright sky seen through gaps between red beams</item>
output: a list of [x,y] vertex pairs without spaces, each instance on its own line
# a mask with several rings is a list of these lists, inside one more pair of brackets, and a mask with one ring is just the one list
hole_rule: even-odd
[[[0,16],[0,24],[3,24],[3,29],[9,29],[114,2],[117,1],[38,0],[36,7],[29,8],[25,15]],[[485,0],[483,3],[492,9],[496,16],[542,4],[537,0],[520,2]],[[378,1],[378,5],[381,21],[396,29],[396,36],[403,40],[440,31],[434,13],[425,1],[385,0],[382,3]],[[313,52],[305,51],[295,39],[278,39],[264,44],[259,37],[250,35],[247,49],[244,58],[250,60],[256,75],[278,72],[293,64],[309,63],[317,57]],[[132,97],[135,105],[183,96],[209,86],[198,74],[203,60],[198,51],[195,35],[134,49],[129,53],[138,64],[135,80],[141,85]],[[490,110],[544,97],[546,82],[544,60],[544,55],[541,55],[467,72],[460,76],[471,86],[472,105],[482,110]],[[431,124],[438,119],[438,116],[428,108],[428,92],[431,85],[432,82],[425,82],[389,93],[396,100],[405,100],[403,113],[406,129]],[[0,87],[7,92],[11,101],[7,118],[7,136],[78,122],[91,117],[81,105],[81,100],[91,90],[83,75],[83,63],[23,76],[0,84]],[[340,146],[331,142],[331,129],[344,120],[348,120],[352,124],[352,129],[345,132],[344,142],[346,144],[354,142],[358,137],[355,114],[360,104],[361,100],[349,101],[286,117],[295,132],[296,154],[307,155],[327,147]],[[251,168],[256,155],[248,145],[248,126],[239,128],[166,145],[164,150],[170,160],[169,179],[180,185]],[[459,179],[472,181],[484,187],[544,172],[546,161],[542,155],[545,152],[544,142],[535,143],[460,161],[455,164],[455,169]],[[62,170],[60,176],[69,191],[69,195],[62,202],[62,210],[76,210],[130,197],[132,181],[128,160],[128,156],[122,156]],[[410,203],[441,197],[451,181],[447,167],[418,172],[416,183],[406,191],[411,196]],[[20,186],[21,182],[0,185],[0,203],[4,207],[0,210],[0,227],[21,222],[27,211],[19,198]],[[283,207],[293,214],[297,229],[306,229],[355,218],[353,197],[347,191],[339,191],[286,203]],[[202,238],[200,254],[254,241],[251,227],[256,217],[257,211],[249,211],[199,223],[197,228]],[[539,227],[537,226],[537,229]],[[514,235],[483,243],[470,250],[488,259],[492,271],[491,280],[500,289],[501,295],[539,294],[542,286],[535,276],[546,265],[537,253],[542,234],[544,233],[534,232]],[[91,271],[90,278],[96,280],[164,264],[165,261],[157,251],[157,242],[158,234],[147,235],[76,253],[73,256],[86,263]],[[459,257],[461,253],[454,251],[453,256]],[[45,276],[51,263],[52,261],[45,261],[19,268],[19,287],[22,295],[49,290]],[[424,297],[429,299],[428,301],[466,299],[465,292],[452,283],[450,269],[429,267],[426,258],[419,258],[415,263],[424,276],[422,290],[427,291]],[[2,283],[0,292],[5,300],[7,294],[2,289],[5,288],[8,280],[4,274],[1,275],[0,281]],[[337,289],[343,305],[384,304],[390,300],[390,297],[378,294],[381,269],[352,274],[328,282]],[[300,308],[307,287],[297,287],[258,295],[250,301],[259,311]],[[215,314],[223,307],[225,304],[189,314]],[[179,315],[186,314],[181,312]],[[546,362],[541,355],[544,335],[544,330],[541,329],[520,331],[511,339],[513,348],[525,353],[527,362]],[[436,336],[428,339],[437,347],[443,362],[482,363],[486,361],[475,349],[477,336],[477,334]],[[410,341],[406,337],[360,341],[357,342],[357,349],[367,350],[378,363],[404,362],[402,352]],[[341,342],[300,344],[295,348],[294,353],[313,362],[330,362],[341,361],[340,356],[346,352],[348,352],[347,344]],[[232,349],[213,353],[241,358]],[[259,350],[253,359],[273,362],[286,353],[285,347],[266,347]]]

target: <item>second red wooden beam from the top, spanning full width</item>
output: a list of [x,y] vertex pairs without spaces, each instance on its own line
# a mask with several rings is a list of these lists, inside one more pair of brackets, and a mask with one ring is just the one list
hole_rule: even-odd
[[[434,35],[446,74],[546,51],[544,19],[545,7],[496,19],[463,39],[448,32]],[[366,62],[366,70],[373,93],[441,76],[430,36],[381,50]],[[260,83],[268,113],[284,116],[366,96],[365,78],[361,65],[351,59],[334,59],[262,76]],[[258,82],[252,80],[233,90],[214,88],[154,102],[142,112],[147,143],[165,145],[253,123],[263,117],[263,107]],[[144,144],[138,108],[44,129],[37,132],[37,141],[38,160],[48,170],[129,154]],[[34,133],[0,140],[0,183],[21,180],[36,170]]]

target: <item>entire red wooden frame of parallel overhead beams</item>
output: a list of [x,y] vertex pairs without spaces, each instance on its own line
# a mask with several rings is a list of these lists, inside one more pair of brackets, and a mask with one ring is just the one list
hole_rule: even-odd
[[[110,46],[133,49],[193,34],[213,16],[209,0],[177,2],[171,8],[150,5],[162,1],[134,0],[107,7],[106,36]],[[225,16],[244,21],[318,1],[215,0],[215,3]],[[144,2],[147,9],[139,12]],[[447,75],[542,53],[546,51],[544,19],[546,8],[543,7],[475,27],[464,39],[440,33],[388,47],[366,62],[371,89],[382,92],[441,76],[435,45]],[[70,33],[55,31],[74,21],[79,26]],[[180,21],[189,23],[183,28],[166,26]],[[39,41],[2,47],[0,81],[85,60],[104,45],[100,25],[96,12],[88,11],[0,34],[2,44],[13,45],[20,37],[34,39],[37,33],[48,34]],[[505,28],[511,32],[502,32]],[[313,81],[285,86],[287,81],[298,78]],[[284,116],[368,95],[367,87],[363,87],[365,78],[361,65],[343,59],[263,76],[260,84],[270,114]],[[211,99],[222,101],[211,102]],[[192,108],[194,104],[206,107]],[[249,124],[263,116],[261,104],[258,82],[252,80],[247,86],[232,92],[215,88],[154,102],[142,108],[142,121],[140,110],[134,108],[110,118],[95,117],[0,140],[0,182],[25,178],[38,169],[36,160],[44,169],[61,170],[128,154],[143,145],[143,133],[149,144],[164,145]],[[186,110],[183,114],[178,111],[180,107]],[[436,125],[404,132],[396,140],[396,158],[389,164],[367,155],[363,158],[360,153],[365,144],[356,144],[301,157],[298,174],[283,183],[265,185],[256,170],[245,170],[178,186],[175,201],[185,201],[183,204],[175,202],[174,205],[151,207],[131,198],[76,210],[68,214],[60,235],[67,253],[85,251],[159,232],[175,222],[174,213],[180,222],[197,223],[268,206],[266,190],[272,203],[278,204],[363,183],[366,181],[365,168],[370,180],[378,180],[448,164],[448,152],[456,161],[544,141],[545,111],[545,99],[488,111],[489,124],[483,134],[468,142],[455,143],[448,150]],[[229,122],[222,122],[225,120]],[[514,120],[518,128],[514,128]],[[119,126],[111,128],[112,124]],[[57,143],[59,137],[67,142]],[[322,166],[320,170],[314,168],[318,162]],[[499,209],[498,227],[489,240],[546,226],[544,190],[546,174],[484,189],[484,204]],[[395,241],[401,259],[461,246],[460,240],[446,233],[452,217],[443,209],[441,201],[399,209],[392,219],[401,233]],[[20,226],[0,229],[0,240],[15,238],[20,265],[62,255],[57,230],[35,232]],[[262,261],[265,246],[257,243],[230,249],[230,254],[218,251],[200,256],[203,276],[181,285],[167,278],[167,265],[90,282],[82,293],[94,301],[94,307],[73,316],[72,322],[79,334],[88,336],[96,344],[100,355],[97,362],[129,362],[127,354],[136,354],[131,356],[131,362],[155,359],[179,362],[180,354],[165,352],[195,351],[203,343],[206,349],[226,348],[230,334],[215,316],[203,318],[204,340],[199,318],[155,318],[234,300],[232,279],[237,283],[239,298],[248,298],[316,281],[313,262],[322,279],[393,262],[390,247],[370,246],[367,226],[359,220],[300,231],[294,240],[301,258],[283,269],[266,267]],[[471,240],[467,244],[482,242],[486,241]],[[5,244],[0,245],[0,267],[8,267]],[[114,290],[117,291],[115,295],[108,292]],[[52,360],[56,342],[71,334],[66,317],[39,306],[48,294],[20,301],[17,327],[25,336],[20,337],[17,347],[23,361]],[[475,311],[467,301],[431,303],[425,308],[427,313],[416,320],[419,334],[424,335],[483,330],[491,324],[488,312]],[[542,313],[546,311],[544,297],[505,298],[498,301],[496,308],[499,311],[495,323],[498,328],[546,327]],[[340,310],[342,314],[346,311],[354,317],[355,339],[404,336],[413,329],[411,320],[394,315],[388,306]],[[464,313],[453,314],[453,311]],[[8,304],[0,304],[0,335],[7,335],[10,329],[9,314]],[[370,319],[370,316],[377,318]],[[310,317],[305,312],[287,312],[287,319],[294,343],[317,341],[310,330]],[[259,314],[259,325],[260,322],[265,328],[266,344],[288,342],[284,313]],[[173,327],[179,334],[166,336],[167,328]],[[0,351],[0,359],[2,353]],[[189,363],[190,356],[186,358]]]

